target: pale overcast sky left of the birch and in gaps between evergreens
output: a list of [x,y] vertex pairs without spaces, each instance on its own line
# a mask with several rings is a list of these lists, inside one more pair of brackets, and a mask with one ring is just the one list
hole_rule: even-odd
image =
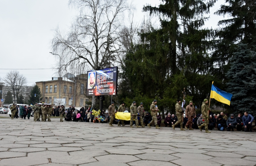
[[[205,27],[216,28],[222,17],[216,12],[223,0],[211,8],[210,19]],[[147,13],[141,12],[143,5],[158,5],[158,0],[135,0],[135,19],[141,21]],[[9,69],[19,70],[28,79],[28,85],[37,81],[51,80],[56,71],[41,68],[58,67],[51,52],[51,40],[57,26],[68,31],[77,11],[69,8],[68,0],[0,0],[0,77]],[[3,70],[8,69],[8,70]]]

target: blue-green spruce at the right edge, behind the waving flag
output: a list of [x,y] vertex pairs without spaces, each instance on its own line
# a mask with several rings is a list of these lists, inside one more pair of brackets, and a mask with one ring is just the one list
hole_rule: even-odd
[[244,111],[256,115],[256,45],[239,43],[230,59],[227,91],[233,94],[230,107],[236,114]]

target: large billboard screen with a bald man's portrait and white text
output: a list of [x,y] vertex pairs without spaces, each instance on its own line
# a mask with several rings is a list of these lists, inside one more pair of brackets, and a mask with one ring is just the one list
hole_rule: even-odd
[[86,96],[115,95],[117,67],[87,71]]

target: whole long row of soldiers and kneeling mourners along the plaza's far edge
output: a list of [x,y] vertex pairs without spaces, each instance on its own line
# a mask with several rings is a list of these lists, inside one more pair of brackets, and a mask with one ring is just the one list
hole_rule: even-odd
[[[175,127],[179,127],[180,130],[205,130],[205,132],[210,133],[209,130],[217,130],[223,131],[250,131],[252,132],[252,122],[254,121],[254,117],[251,114],[248,114],[247,111],[244,112],[244,115],[239,113],[237,117],[234,114],[231,114],[230,117],[227,114],[221,112],[220,114],[211,114],[211,110],[207,107],[208,99],[204,99],[202,103],[202,114],[197,114],[195,111],[195,107],[193,102],[190,101],[188,106],[185,109],[185,117],[183,117],[184,111],[181,108],[180,99],[177,100],[175,105],[176,115],[168,114],[164,119],[165,127],[169,126],[175,130]],[[130,127],[136,125],[136,128],[148,126],[151,128],[151,124],[154,125],[157,129],[160,128],[162,123],[162,117],[159,115],[159,110],[157,107],[157,101],[154,100],[150,106],[151,114],[144,110],[143,103],[140,103],[139,107],[136,107],[136,102],[133,101],[130,107]],[[123,102],[118,109],[115,109],[114,102],[108,107],[108,110],[102,111],[102,117],[104,117],[103,121],[97,121],[92,113],[91,108],[81,107],[80,110],[76,110],[75,107],[70,106],[68,109],[65,109],[62,105],[61,107],[52,107],[50,105],[37,105],[37,103],[33,106],[24,106],[24,105],[16,105],[10,108],[12,111],[12,119],[18,118],[28,119],[32,112],[34,111],[34,121],[40,121],[40,115],[42,117],[41,121],[45,121],[48,116],[48,122],[51,121],[51,116],[60,116],[60,122],[63,122],[63,117],[65,121],[73,121],[73,122],[94,122],[94,123],[109,123],[109,126],[113,126],[113,124],[117,124],[118,126],[124,126],[129,122],[125,122],[122,119],[116,119],[115,114],[117,112],[128,112],[124,107],[125,103]],[[183,119],[183,120],[182,120]],[[144,125],[145,123],[145,125]],[[185,129],[184,129],[185,128]],[[208,130],[209,129],[209,130]]]

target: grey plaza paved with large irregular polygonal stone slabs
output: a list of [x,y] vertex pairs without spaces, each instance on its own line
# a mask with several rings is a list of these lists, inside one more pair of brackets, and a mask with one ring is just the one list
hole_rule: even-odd
[[256,132],[0,119],[0,165],[254,166]]

